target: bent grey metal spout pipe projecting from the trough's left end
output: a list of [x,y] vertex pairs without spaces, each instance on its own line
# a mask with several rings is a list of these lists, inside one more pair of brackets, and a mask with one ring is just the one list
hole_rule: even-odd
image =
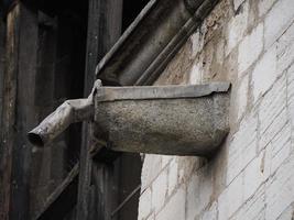
[[88,98],[66,100],[53,113],[46,117],[35,129],[28,133],[29,141],[35,146],[44,146],[72,123],[94,118],[94,96],[101,81],[97,80]]

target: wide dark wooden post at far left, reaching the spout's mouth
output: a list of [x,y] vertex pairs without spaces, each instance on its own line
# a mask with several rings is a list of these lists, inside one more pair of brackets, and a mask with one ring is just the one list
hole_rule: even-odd
[[26,131],[35,124],[36,13],[18,3],[7,19],[1,219],[29,219],[31,147]]

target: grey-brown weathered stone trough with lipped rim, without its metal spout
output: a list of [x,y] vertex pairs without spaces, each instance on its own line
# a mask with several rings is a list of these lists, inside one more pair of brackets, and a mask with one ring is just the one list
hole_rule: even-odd
[[228,132],[229,84],[97,90],[95,123],[115,151],[209,155]]

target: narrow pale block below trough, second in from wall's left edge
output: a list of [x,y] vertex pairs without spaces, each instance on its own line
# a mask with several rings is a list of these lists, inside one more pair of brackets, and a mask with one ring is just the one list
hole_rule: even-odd
[[163,207],[167,193],[167,168],[152,183],[152,209],[155,213]]

